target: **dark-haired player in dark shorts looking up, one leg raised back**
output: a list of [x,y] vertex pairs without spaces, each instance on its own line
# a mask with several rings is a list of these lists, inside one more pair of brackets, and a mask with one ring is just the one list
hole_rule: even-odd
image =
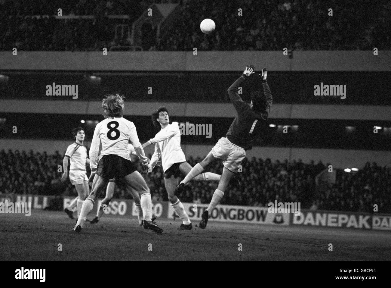
[[[151,162],[148,165],[148,172],[152,172],[159,158],[163,164],[164,185],[167,190],[169,200],[175,212],[181,217],[182,224],[179,230],[191,230],[192,223],[185,212],[183,204],[174,195],[176,186],[178,185],[178,177],[186,176],[192,169],[187,163],[185,154],[181,149],[181,132],[178,122],[170,124],[169,113],[166,107],[159,107],[152,114],[152,123],[155,127],[161,128],[156,136],[143,144],[143,148],[148,145],[155,144],[155,152],[151,157]],[[219,181],[221,175],[206,172],[195,177],[198,181]]]

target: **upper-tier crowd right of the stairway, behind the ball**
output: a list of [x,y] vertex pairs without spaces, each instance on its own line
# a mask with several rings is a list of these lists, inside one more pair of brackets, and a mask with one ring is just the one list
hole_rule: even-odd
[[[211,36],[199,29],[205,18],[216,23]],[[181,17],[156,49],[337,50],[342,45],[390,49],[390,19],[389,1],[185,1]]]

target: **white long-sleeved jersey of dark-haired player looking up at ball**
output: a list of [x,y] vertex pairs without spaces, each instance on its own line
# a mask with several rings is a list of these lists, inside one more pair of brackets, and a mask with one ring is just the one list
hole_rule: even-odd
[[181,148],[181,132],[179,131],[178,122],[167,125],[149,141],[152,144],[155,143],[155,152],[150,163],[152,167],[155,167],[160,156],[164,172],[174,163],[186,162],[185,154]]

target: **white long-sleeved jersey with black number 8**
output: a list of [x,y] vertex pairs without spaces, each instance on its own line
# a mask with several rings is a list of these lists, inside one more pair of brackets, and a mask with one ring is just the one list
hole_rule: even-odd
[[143,162],[147,161],[133,122],[123,117],[106,118],[99,122],[95,127],[91,142],[90,168],[96,169],[102,156],[109,154],[118,155],[131,161],[128,150],[129,143],[133,145],[138,158]]

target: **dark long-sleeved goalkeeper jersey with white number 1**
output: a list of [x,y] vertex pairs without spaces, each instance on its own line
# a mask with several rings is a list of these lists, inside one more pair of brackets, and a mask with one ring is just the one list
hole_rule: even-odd
[[245,103],[238,94],[238,87],[246,78],[240,76],[238,80],[228,88],[228,95],[235,107],[238,115],[233,120],[230,129],[226,134],[231,143],[242,147],[244,150],[250,150],[253,147],[255,138],[260,136],[261,122],[265,121],[269,116],[273,98],[271,96],[270,88],[267,83],[262,83],[264,94],[266,96],[265,109],[260,112],[255,112],[250,105]]

